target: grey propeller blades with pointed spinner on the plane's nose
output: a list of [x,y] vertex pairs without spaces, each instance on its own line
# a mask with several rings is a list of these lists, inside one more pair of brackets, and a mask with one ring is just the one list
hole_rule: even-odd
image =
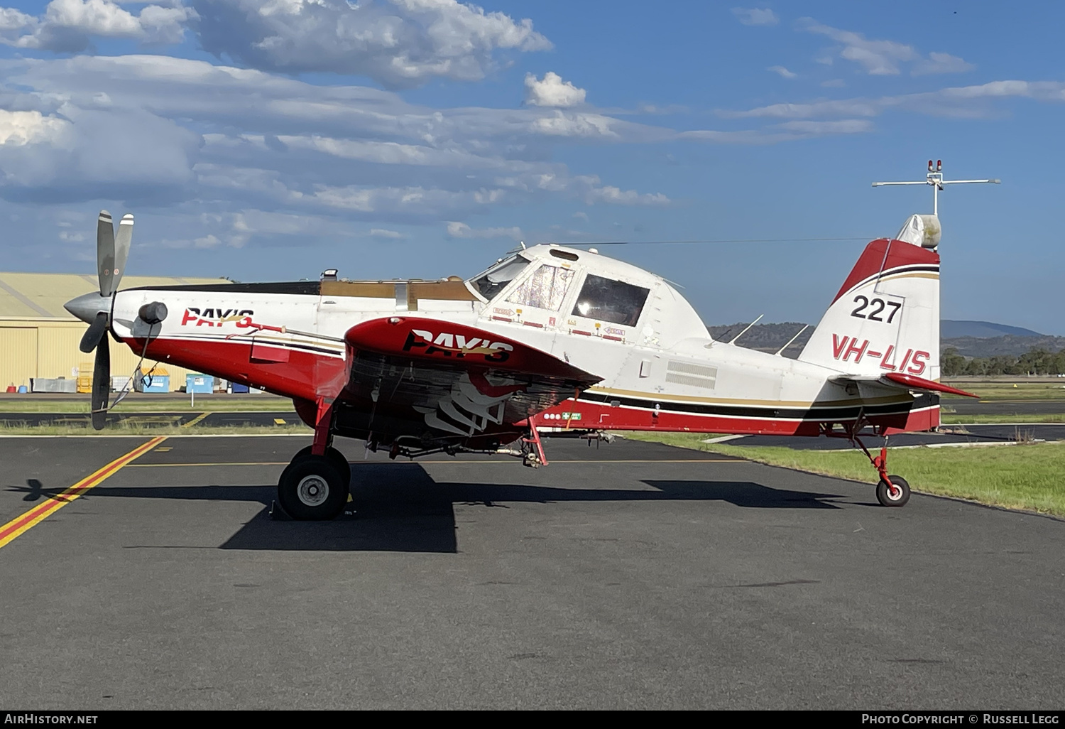
[[93,427],[103,430],[108,417],[111,393],[111,343],[108,330],[111,328],[111,304],[118,284],[126,270],[126,259],[133,239],[133,215],[127,214],[118,224],[115,234],[111,213],[100,211],[96,226],[96,261],[100,281],[99,293],[87,293],[73,298],[64,308],[83,322],[88,329],[81,338],[79,347],[84,353],[96,350],[93,369]]

